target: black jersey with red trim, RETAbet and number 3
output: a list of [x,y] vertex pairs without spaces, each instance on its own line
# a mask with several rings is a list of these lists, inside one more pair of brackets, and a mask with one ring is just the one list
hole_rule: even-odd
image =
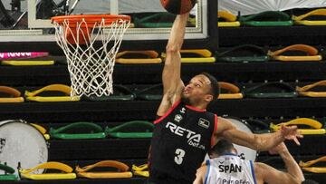
[[192,183],[206,152],[213,146],[216,114],[177,102],[154,124],[149,181]]

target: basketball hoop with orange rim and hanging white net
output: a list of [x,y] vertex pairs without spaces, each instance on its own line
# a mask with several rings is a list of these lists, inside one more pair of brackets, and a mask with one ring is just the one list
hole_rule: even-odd
[[[52,17],[57,44],[67,57],[72,96],[109,96],[112,73],[128,15],[63,15]],[[104,31],[107,29],[110,31]],[[95,48],[95,41],[101,47]],[[111,42],[112,47],[107,48]]]

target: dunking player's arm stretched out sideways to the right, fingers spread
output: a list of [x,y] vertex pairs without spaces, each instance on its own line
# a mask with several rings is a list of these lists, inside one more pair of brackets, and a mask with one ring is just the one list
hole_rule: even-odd
[[297,127],[283,126],[280,131],[264,134],[253,134],[245,131],[239,131],[235,128],[231,121],[218,117],[218,126],[216,138],[224,138],[235,144],[239,144],[253,150],[270,150],[283,140],[294,140],[299,144],[297,137],[302,138],[302,135],[297,130]]

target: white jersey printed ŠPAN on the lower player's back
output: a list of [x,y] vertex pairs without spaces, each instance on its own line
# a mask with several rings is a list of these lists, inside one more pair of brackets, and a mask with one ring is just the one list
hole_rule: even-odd
[[251,160],[233,154],[206,160],[205,184],[256,184]]

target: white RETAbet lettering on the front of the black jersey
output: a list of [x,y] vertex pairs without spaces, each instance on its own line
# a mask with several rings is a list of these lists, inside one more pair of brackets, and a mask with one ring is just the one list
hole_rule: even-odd
[[168,121],[166,128],[177,136],[186,137],[188,145],[205,150],[205,146],[200,144],[201,135],[195,131],[187,130],[170,121]]

